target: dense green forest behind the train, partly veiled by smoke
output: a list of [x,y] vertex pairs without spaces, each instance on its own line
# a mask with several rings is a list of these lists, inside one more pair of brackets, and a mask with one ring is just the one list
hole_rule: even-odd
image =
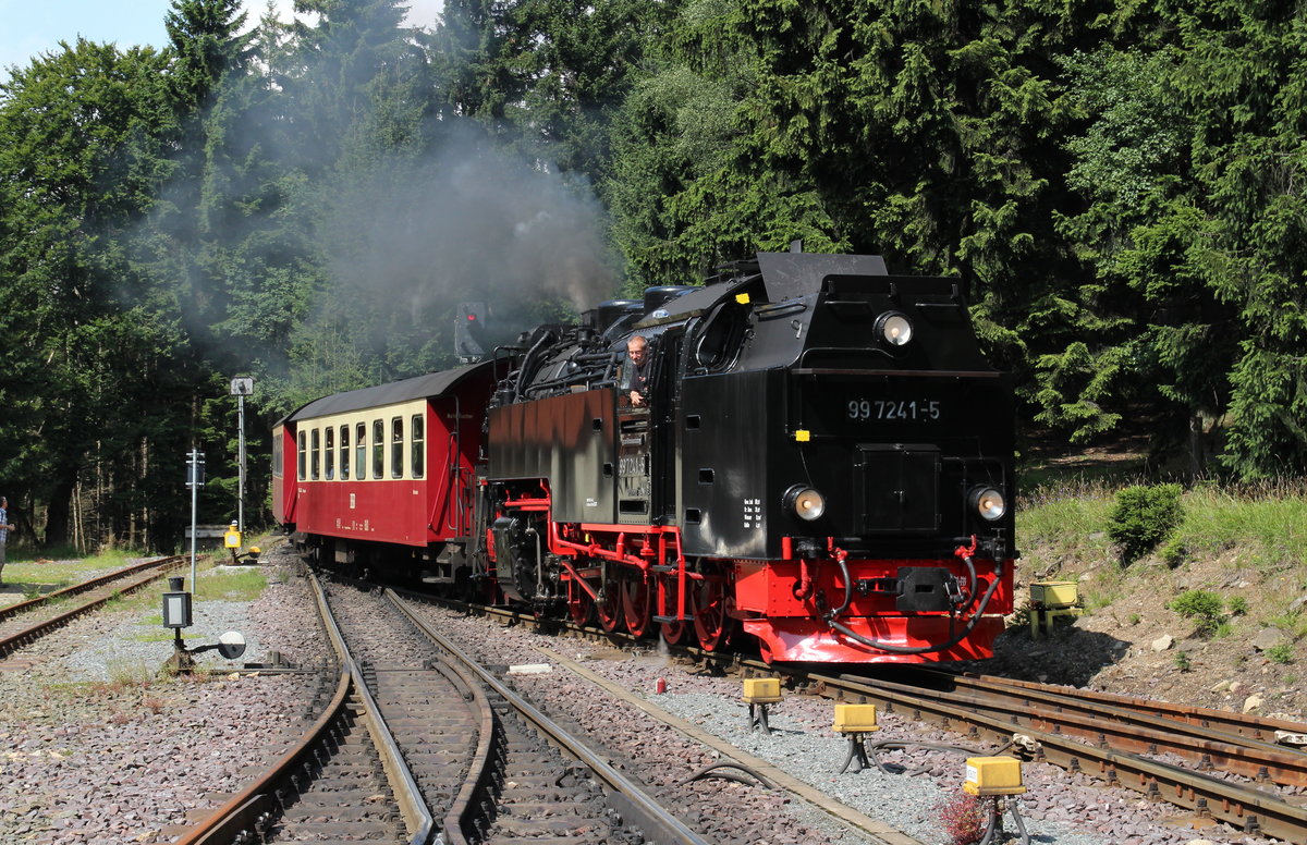
[[[1307,470],[1307,14],[1259,0],[173,0],[0,72],[0,479],[20,539],[250,521],[272,421],[754,251],[963,281],[1019,431]],[[242,34],[244,33],[244,34]]]

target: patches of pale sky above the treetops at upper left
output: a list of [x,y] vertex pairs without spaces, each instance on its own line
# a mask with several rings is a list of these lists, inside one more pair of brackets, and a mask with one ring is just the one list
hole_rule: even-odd
[[[257,22],[267,0],[244,0],[247,25]],[[434,26],[440,0],[408,0],[408,24]],[[290,17],[291,0],[273,0],[282,18]],[[163,16],[169,0],[0,0],[0,78],[10,65],[27,65],[34,56],[59,48],[60,40],[74,43],[81,35],[94,42],[114,42],[120,48],[133,44],[167,44]]]

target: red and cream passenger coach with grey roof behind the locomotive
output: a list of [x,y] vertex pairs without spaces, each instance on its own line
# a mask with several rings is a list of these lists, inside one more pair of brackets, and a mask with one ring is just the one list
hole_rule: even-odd
[[312,559],[452,581],[472,533],[484,362],[315,400],[273,428],[273,512]]

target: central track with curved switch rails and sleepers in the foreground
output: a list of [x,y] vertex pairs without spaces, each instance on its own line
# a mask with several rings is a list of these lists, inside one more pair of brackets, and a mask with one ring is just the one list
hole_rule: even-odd
[[393,593],[315,590],[342,649],[331,708],[182,842],[703,842]]

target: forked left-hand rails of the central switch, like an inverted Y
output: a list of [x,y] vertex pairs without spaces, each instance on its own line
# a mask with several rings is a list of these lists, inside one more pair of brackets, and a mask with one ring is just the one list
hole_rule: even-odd
[[[382,756],[382,765],[387,774],[391,776],[392,784],[396,782],[396,774],[400,773],[400,782],[396,784],[400,789],[396,789],[396,795],[400,803],[400,812],[404,815],[405,824],[408,824],[412,832],[410,845],[425,845],[431,838],[431,814],[426,810],[426,805],[417,791],[417,785],[413,782],[412,774],[408,774],[408,767],[404,764],[399,747],[389,737],[389,730],[380,721],[376,704],[371,700],[371,695],[359,677],[358,667],[349,656],[344,637],[327,603],[327,596],[316,577],[310,576],[310,585],[314,589],[323,627],[327,630],[327,636],[341,661],[336,695],[323,714],[319,716],[314,725],[277,763],[260,774],[252,784],[237,793],[213,815],[192,827],[179,840],[178,845],[230,845],[239,841],[242,836],[250,836],[250,831],[255,831],[260,825],[267,825],[271,818],[278,811],[280,801],[277,799],[277,791],[291,784],[291,776],[308,763],[322,737],[333,725],[339,724],[340,720],[346,717],[356,697],[365,703],[361,716],[365,720],[369,734],[372,737],[378,754]],[[380,742],[378,742],[379,739]],[[404,780],[405,774],[406,781]]]

